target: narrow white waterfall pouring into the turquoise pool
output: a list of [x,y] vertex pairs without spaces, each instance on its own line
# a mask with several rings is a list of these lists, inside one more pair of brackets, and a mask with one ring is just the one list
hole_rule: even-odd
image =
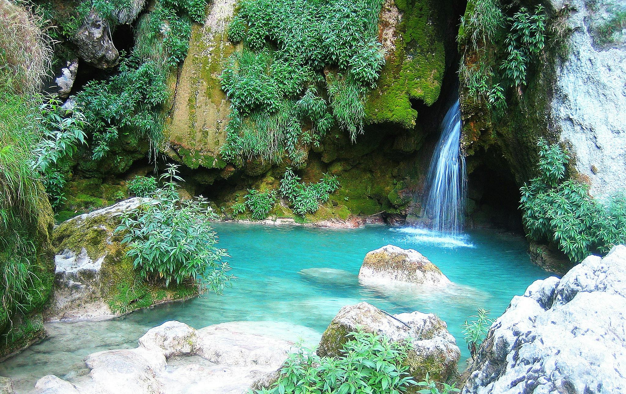
[[426,183],[426,215],[436,231],[458,234],[465,216],[465,158],[460,152],[461,111],[459,101],[441,123],[441,138],[434,150]]

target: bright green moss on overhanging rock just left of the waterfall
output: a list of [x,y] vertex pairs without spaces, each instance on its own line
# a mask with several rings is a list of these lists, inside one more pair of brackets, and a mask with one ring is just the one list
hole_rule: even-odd
[[431,0],[396,0],[403,15],[395,49],[382,68],[377,88],[369,93],[366,121],[416,125],[411,99],[432,105],[439,97],[445,71],[443,31]]

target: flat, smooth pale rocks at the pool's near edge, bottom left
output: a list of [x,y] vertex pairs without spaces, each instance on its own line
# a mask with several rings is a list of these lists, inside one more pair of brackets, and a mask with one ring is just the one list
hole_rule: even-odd
[[150,329],[135,349],[107,350],[86,358],[88,380],[74,384],[41,378],[36,393],[241,394],[287,358],[292,344],[231,331],[221,324],[193,329],[167,321]]

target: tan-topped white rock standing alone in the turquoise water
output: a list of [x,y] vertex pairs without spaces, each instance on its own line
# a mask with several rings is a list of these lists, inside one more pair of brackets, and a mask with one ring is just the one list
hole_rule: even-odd
[[451,284],[448,277],[421,253],[394,245],[368,252],[359,270],[359,279],[434,286]]

